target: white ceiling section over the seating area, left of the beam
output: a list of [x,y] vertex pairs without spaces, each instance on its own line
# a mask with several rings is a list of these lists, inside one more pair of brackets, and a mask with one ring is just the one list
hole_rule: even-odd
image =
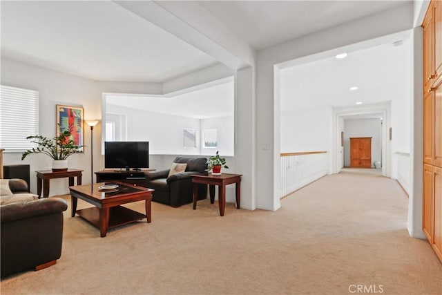
[[112,1],[1,1],[1,55],[122,82],[164,82],[218,63]]

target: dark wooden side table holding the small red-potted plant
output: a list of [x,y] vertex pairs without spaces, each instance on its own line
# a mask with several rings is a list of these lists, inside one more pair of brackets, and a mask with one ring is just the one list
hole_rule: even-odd
[[220,216],[224,216],[224,208],[226,207],[226,185],[236,184],[236,209],[240,209],[241,200],[241,174],[221,175],[192,175],[193,184],[193,210],[196,209],[196,201],[198,200],[198,184],[209,184],[210,202],[215,202],[215,185],[218,185],[218,204],[220,207]]

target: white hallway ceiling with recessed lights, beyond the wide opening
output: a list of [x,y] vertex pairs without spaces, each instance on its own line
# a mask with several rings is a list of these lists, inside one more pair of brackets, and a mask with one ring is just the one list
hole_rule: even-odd
[[[280,109],[284,112],[355,106],[410,95],[411,44],[385,44],[329,57],[280,71]],[[358,87],[351,91],[351,87]]]

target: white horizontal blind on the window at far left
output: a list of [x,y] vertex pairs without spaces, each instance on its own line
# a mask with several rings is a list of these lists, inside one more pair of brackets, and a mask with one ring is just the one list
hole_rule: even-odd
[[38,134],[38,91],[0,85],[0,148],[21,153],[35,147],[26,137]]

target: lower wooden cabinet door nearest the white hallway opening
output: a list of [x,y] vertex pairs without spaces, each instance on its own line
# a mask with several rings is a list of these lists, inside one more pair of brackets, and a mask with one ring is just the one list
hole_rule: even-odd
[[434,218],[434,186],[433,166],[423,165],[423,216],[422,230],[430,244],[433,241],[433,218]]

